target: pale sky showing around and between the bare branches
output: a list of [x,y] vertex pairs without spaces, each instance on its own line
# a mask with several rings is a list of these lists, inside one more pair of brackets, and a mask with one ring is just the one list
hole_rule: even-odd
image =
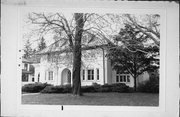
[[[36,48],[37,47],[37,43],[39,42],[39,39],[41,38],[40,34],[37,33],[37,31],[35,31],[34,33],[32,33],[32,30],[37,29],[37,25],[31,24],[30,22],[28,22],[28,14],[32,13],[31,11],[26,11],[22,13],[22,42],[23,44],[25,44],[27,39],[30,39],[30,42],[32,43],[32,48]],[[39,12],[36,12],[39,13]],[[45,12],[46,13],[50,13],[50,12]],[[52,12],[51,12],[52,13]],[[53,12],[56,13],[56,12]],[[73,12],[71,11],[63,11],[62,12],[63,15],[66,17],[66,19],[72,19],[73,17]],[[103,16],[104,14],[101,14],[101,16]],[[111,15],[111,14],[110,14]],[[116,15],[116,14],[115,14]],[[123,15],[123,14],[118,14],[118,15]],[[140,15],[136,15],[136,17],[139,17],[143,22],[145,22],[147,19],[143,19],[141,18],[142,16],[147,15],[147,14],[140,14]],[[109,17],[108,17],[109,18]],[[117,20],[112,20],[111,18],[105,18],[105,20],[107,20],[108,22],[110,22],[110,27],[105,27],[102,30],[105,30],[106,33],[108,33],[109,36],[113,36],[113,35],[117,35],[118,32],[120,31],[120,28],[123,27],[123,18],[117,18]],[[92,19],[93,21],[93,19]],[[114,22],[118,22],[118,23],[113,23]],[[139,20],[140,21],[140,20]],[[97,23],[106,23],[106,22],[97,22]],[[93,24],[90,24],[89,27],[93,26]],[[46,40],[46,44],[47,46],[52,44],[54,42],[53,37],[54,35],[52,33],[48,33],[46,35],[43,35],[43,37]]]

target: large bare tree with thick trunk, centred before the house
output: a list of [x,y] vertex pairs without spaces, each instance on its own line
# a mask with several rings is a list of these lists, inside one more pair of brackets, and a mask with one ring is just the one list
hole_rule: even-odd
[[[109,41],[107,38],[104,16],[89,13],[74,13],[72,18],[66,18],[62,13],[31,13],[28,18],[31,24],[38,25],[39,33],[45,35],[51,33],[55,36],[55,43],[63,41],[73,53],[73,95],[81,95],[81,56],[82,46],[88,47],[94,40]],[[67,16],[68,17],[68,16]],[[104,26],[104,27],[102,27]],[[87,38],[88,37],[88,38]],[[110,42],[110,41],[109,41]]]

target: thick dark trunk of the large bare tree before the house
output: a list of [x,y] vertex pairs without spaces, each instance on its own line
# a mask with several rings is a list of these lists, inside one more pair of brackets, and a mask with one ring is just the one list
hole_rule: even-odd
[[84,27],[83,13],[75,13],[76,31],[73,46],[73,95],[81,93],[81,38]]

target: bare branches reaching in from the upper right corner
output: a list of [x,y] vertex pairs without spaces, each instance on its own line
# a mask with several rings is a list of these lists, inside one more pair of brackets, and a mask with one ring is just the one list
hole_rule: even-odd
[[126,23],[150,38],[156,46],[160,46],[160,15],[144,15],[137,18],[134,15],[125,14],[124,17],[126,18]]

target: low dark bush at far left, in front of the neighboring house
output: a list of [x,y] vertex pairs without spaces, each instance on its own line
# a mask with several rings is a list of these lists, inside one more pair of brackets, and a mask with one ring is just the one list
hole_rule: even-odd
[[37,93],[43,90],[46,86],[51,86],[47,83],[31,83],[22,86],[22,92]]

